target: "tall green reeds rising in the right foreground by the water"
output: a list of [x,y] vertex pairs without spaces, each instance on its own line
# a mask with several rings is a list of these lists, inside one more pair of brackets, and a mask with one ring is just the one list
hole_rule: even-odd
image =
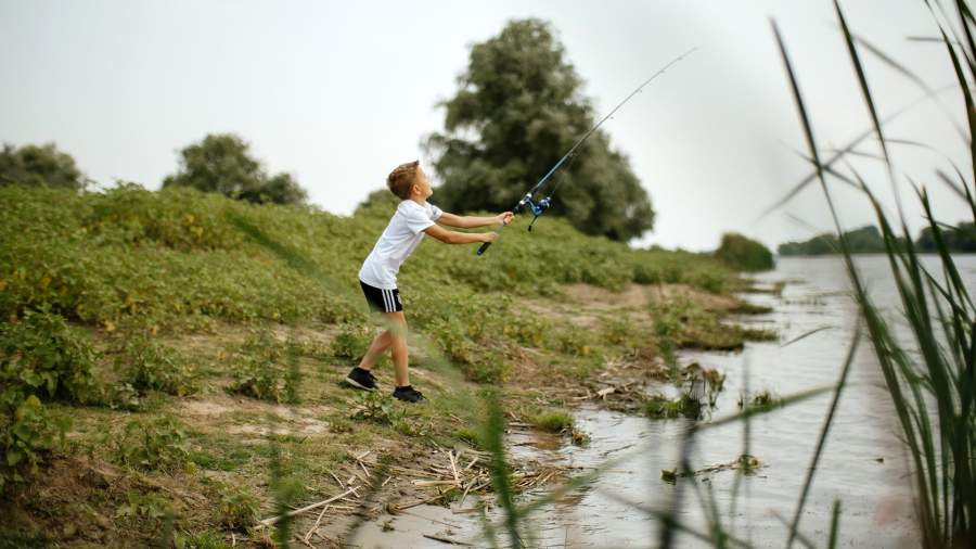
[[[976,65],[972,61],[976,59],[976,42],[973,38],[976,21],[967,1],[955,0],[951,4],[955,8],[954,20],[941,3],[933,5],[926,2],[964,100],[969,132],[964,139],[969,145],[972,176],[976,177],[976,141],[973,139],[976,136],[976,115],[973,89],[967,79],[976,77]],[[816,171],[816,179],[806,180],[799,188],[816,180],[827,200],[855,298],[895,407],[902,439],[909,450],[922,542],[927,548],[968,547],[976,540],[973,523],[976,520],[976,309],[955,260],[945,244],[943,233],[955,229],[936,218],[925,187],[909,178],[925,212],[938,250],[941,272],[929,271],[920,260],[916,244],[912,242],[908,229],[899,181],[888,151],[891,142],[886,137],[884,120],[877,113],[861,61],[862,52],[868,51],[882,59],[920,84],[927,92],[930,89],[908,68],[853,35],[836,0],[834,7],[860,92],[873,123],[873,130],[869,135],[877,139],[881,148],[882,162],[895,194],[898,214],[892,218],[885,212],[876,191],[871,189],[852,166],[848,166],[849,175],[832,168],[832,164],[843,155],[836,155],[826,162],[821,159],[796,74],[780,33],[773,25],[806,135],[810,162]],[[946,21],[952,21],[954,26],[943,25],[939,15]],[[852,143],[844,151],[849,152],[856,144],[857,142]],[[853,260],[855,251],[838,220],[827,176],[860,189],[874,208],[891,277],[901,299],[900,320],[908,328],[910,341],[906,341],[895,330],[892,322],[885,318],[868,293],[866,281]],[[976,200],[963,173],[958,167],[952,176],[936,171],[935,179],[948,186],[969,207],[976,220]],[[795,194],[797,190],[794,189],[791,194]],[[835,511],[835,515],[836,512],[838,511]],[[795,528],[792,528],[791,542],[794,537]]]

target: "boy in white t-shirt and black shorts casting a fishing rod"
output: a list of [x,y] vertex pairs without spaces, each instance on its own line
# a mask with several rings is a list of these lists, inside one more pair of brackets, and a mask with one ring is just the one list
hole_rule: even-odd
[[396,379],[394,397],[408,403],[419,403],[424,399],[424,395],[410,386],[410,378],[407,374],[407,317],[400,304],[400,291],[397,290],[397,272],[400,265],[420,244],[424,234],[447,244],[492,242],[498,238],[496,232],[449,231],[437,226],[435,221],[448,227],[471,229],[508,225],[513,216],[511,212],[495,217],[462,217],[441,212],[437,206],[427,203],[434,191],[418,161],[397,166],[386,178],[386,186],[402,202],[397,206],[397,212],[380,235],[373,251],[362,263],[359,283],[370,309],[383,312],[389,322],[389,329],[373,340],[359,366],[346,376],[346,382],[355,387],[374,391],[376,378],[370,370],[380,355],[390,349]]

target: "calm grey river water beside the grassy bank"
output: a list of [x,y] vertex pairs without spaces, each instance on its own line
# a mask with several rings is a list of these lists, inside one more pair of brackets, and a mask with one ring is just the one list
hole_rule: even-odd
[[[936,256],[923,257],[923,264],[936,273],[938,261]],[[889,311],[889,319],[896,319],[899,299],[887,258],[860,256],[857,265],[876,304]],[[976,288],[976,256],[959,256],[956,266],[967,286]],[[755,278],[761,285],[778,281],[786,284],[780,294],[744,294],[747,301],[768,305],[773,311],[734,320],[774,329],[779,341],[748,343],[741,353],[679,355],[682,366],[698,362],[725,373],[724,390],[711,418],[737,412],[737,401],[746,386],[753,393],[765,390],[785,396],[836,383],[853,337],[858,310],[839,258],[780,258],[775,270]],[[784,345],[816,329],[821,330]],[[667,386],[653,390],[672,391]],[[723,528],[732,535],[756,547],[785,547],[784,521],[791,521],[796,512],[830,401],[827,393],[752,421],[748,454],[758,458],[761,467],[740,477],[734,505],[735,471],[702,473],[695,475],[694,483],[679,478],[677,485],[662,478],[662,470],[673,470],[679,464],[691,420],[648,420],[582,408],[576,411],[576,418],[579,427],[591,437],[585,447],[539,444],[538,437],[532,441],[536,444],[521,444],[527,435],[514,434],[510,442],[518,458],[583,469],[608,459],[622,459],[572,497],[534,514],[534,545],[656,547],[659,521],[634,506],[667,509],[680,489],[678,519],[682,523],[703,532],[707,528],[705,510],[710,491]],[[800,532],[814,546],[826,546],[832,506],[839,500],[838,547],[917,547],[910,478],[892,410],[873,350],[868,342],[862,342],[799,524]],[[705,419],[701,423],[707,422]],[[692,469],[734,461],[743,454],[743,429],[742,422],[735,422],[701,432],[691,454]],[[478,521],[455,511],[460,509],[418,508],[412,514],[396,519],[396,533],[384,534],[367,526],[354,542],[363,547],[445,547],[421,536],[440,533],[486,546],[484,539],[478,539]],[[679,534],[675,546],[710,547],[689,534]]]

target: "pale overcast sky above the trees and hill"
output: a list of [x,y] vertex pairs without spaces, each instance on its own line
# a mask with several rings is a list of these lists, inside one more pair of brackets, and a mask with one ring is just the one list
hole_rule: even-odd
[[[943,47],[908,39],[937,36],[922,0],[843,8],[855,33],[932,88],[953,84]],[[295,176],[312,204],[349,215],[398,164],[429,165],[421,142],[444,128],[437,104],[457,91],[471,46],[523,17],[552,24],[599,116],[697,47],[603,126],[657,212],[634,244],[704,251],[736,231],[775,246],[832,228],[816,186],[762,216],[809,173],[795,152],[806,144],[771,17],[819,148],[844,146],[871,127],[826,0],[0,0],[0,141],[54,142],[103,187],[121,179],[158,189],[180,149],[234,132],[270,173]],[[882,116],[924,94],[862,55]],[[909,177],[929,190],[940,220],[966,218],[935,178],[950,161],[968,164],[949,122],[963,119],[963,102],[953,89],[939,101],[942,108],[924,102],[885,127],[938,151],[891,145],[894,187],[876,159],[850,157],[890,212],[898,190],[913,231],[924,220]],[[876,141],[860,150],[879,153]],[[846,228],[872,222],[862,195],[832,189]]]

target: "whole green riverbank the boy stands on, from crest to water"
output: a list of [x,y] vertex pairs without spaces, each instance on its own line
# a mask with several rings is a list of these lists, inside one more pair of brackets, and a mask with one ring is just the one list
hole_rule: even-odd
[[[355,273],[388,203],[339,217],[189,189],[9,186],[0,204],[0,538],[16,547],[262,546],[326,512],[351,528],[419,502],[476,507],[497,490],[486,395],[509,425],[586,444],[573,410],[647,413],[647,387],[696,374],[678,349],[776,337],[728,322],[768,310],[707,255],[556,218],[529,235],[521,219],[493,254],[427,244],[404,266],[411,373],[431,395],[406,406],[388,362],[382,393],[341,382],[378,329]],[[508,467],[515,491],[567,474]]]

